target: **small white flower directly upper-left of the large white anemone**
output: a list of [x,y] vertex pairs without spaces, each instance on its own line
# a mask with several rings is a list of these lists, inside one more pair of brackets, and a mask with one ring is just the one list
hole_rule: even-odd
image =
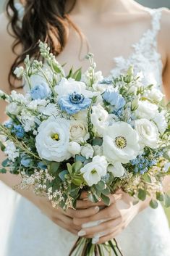
[[109,117],[109,113],[104,110],[101,105],[93,106],[92,113],[91,113],[91,123],[94,125],[98,136],[102,137],[103,132],[106,129],[106,120]]

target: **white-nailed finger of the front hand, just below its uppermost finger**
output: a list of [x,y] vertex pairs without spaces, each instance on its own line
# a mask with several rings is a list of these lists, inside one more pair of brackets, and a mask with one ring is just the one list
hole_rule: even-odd
[[122,223],[122,218],[117,218],[116,220],[108,220],[104,223],[101,223],[98,226],[93,228],[83,228],[79,231],[78,236],[96,236],[96,234],[102,234],[102,232],[106,232],[106,234],[110,234],[119,227]]

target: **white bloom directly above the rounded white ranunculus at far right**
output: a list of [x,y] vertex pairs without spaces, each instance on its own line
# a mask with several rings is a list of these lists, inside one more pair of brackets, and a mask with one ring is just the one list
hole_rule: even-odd
[[148,101],[140,101],[136,110],[137,117],[153,119],[158,112],[158,106]]

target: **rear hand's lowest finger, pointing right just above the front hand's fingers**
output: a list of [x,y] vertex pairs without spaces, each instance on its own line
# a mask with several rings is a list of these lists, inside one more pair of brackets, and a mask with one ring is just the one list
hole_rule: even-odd
[[98,206],[90,207],[85,210],[73,210],[72,208],[69,208],[67,210],[67,214],[72,218],[87,218],[95,215],[97,212],[99,212],[99,210],[100,208]]

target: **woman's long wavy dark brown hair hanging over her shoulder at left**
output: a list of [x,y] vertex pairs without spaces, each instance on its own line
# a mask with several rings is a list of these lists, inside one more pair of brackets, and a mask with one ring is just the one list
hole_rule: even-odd
[[14,0],[7,2],[9,25],[12,27],[12,36],[15,38],[12,51],[16,54],[16,47],[19,44],[22,45],[22,52],[17,55],[9,72],[11,86],[14,68],[24,61],[26,55],[39,57],[39,40],[46,42],[57,56],[67,43],[69,25],[72,25],[80,33],[76,25],[69,19],[69,12],[75,7],[76,0],[72,0],[71,7],[67,9],[69,3],[70,0],[25,0],[25,15],[22,19],[22,25],[20,25]]

